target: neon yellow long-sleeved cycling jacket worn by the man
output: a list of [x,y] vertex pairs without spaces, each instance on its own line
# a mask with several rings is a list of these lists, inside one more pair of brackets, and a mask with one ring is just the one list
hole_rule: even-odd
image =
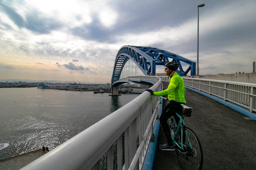
[[169,77],[170,83],[166,90],[154,92],[154,96],[164,96],[168,94],[168,100],[175,100],[177,102],[185,103],[185,87],[184,81],[176,72]]

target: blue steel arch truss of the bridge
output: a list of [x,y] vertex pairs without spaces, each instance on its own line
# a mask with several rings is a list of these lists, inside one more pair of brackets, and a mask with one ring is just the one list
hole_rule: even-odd
[[179,64],[180,61],[183,61],[189,65],[187,70],[184,71],[180,64],[179,69],[176,71],[180,76],[186,76],[189,71],[191,75],[196,74],[196,63],[177,54],[154,47],[123,46],[116,54],[111,84],[119,80],[123,67],[129,59],[132,60],[146,76],[155,74],[156,65],[165,65],[169,61]]

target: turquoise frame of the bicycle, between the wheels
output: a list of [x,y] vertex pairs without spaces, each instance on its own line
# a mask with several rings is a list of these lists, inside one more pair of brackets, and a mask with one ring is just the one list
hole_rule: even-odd
[[[180,149],[183,150],[183,146],[185,146],[185,145],[183,144],[183,141],[182,141],[182,140],[183,140],[183,129],[182,129],[182,125],[184,126],[185,123],[184,123],[183,118],[182,118],[178,113],[176,113],[176,115],[180,118],[180,121],[179,121],[179,124],[178,124],[178,126],[177,126],[177,129],[176,129],[176,131],[175,131],[174,136],[172,135],[172,133],[171,133],[171,136],[172,136],[172,141],[173,141],[173,143],[175,144],[175,146],[177,146],[177,147],[179,147]],[[170,118],[169,118],[169,123],[171,123]],[[179,132],[180,129],[181,129],[181,142],[175,141],[175,138],[176,138],[176,136],[178,135],[178,132]],[[185,131],[185,134],[186,134],[187,140],[188,140],[188,142],[189,142],[189,146],[190,146],[190,148],[192,149],[190,140],[189,140],[189,138],[188,138],[188,136],[187,136],[187,131]]]

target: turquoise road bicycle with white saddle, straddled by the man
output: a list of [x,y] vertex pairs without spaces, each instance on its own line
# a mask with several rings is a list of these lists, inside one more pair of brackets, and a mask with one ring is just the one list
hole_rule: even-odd
[[[165,97],[162,99],[167,100]],[[172,142],[175,144],[176,155],[183,170],[201,170],[203,167],[203,150],[195,132],[184,123],[184,117],[191,117],[192,108],[181,104],[182,114],[176,113],[180,118],[175,127],[173,118],[168,119]]]

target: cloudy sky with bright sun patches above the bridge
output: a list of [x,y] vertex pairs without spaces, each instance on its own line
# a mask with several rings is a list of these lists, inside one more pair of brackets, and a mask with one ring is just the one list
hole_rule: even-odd
[[0,79],[107,83],[124,45],[196,61],[202,3],[199,73],[251,73],[255,0],[0,0]]

